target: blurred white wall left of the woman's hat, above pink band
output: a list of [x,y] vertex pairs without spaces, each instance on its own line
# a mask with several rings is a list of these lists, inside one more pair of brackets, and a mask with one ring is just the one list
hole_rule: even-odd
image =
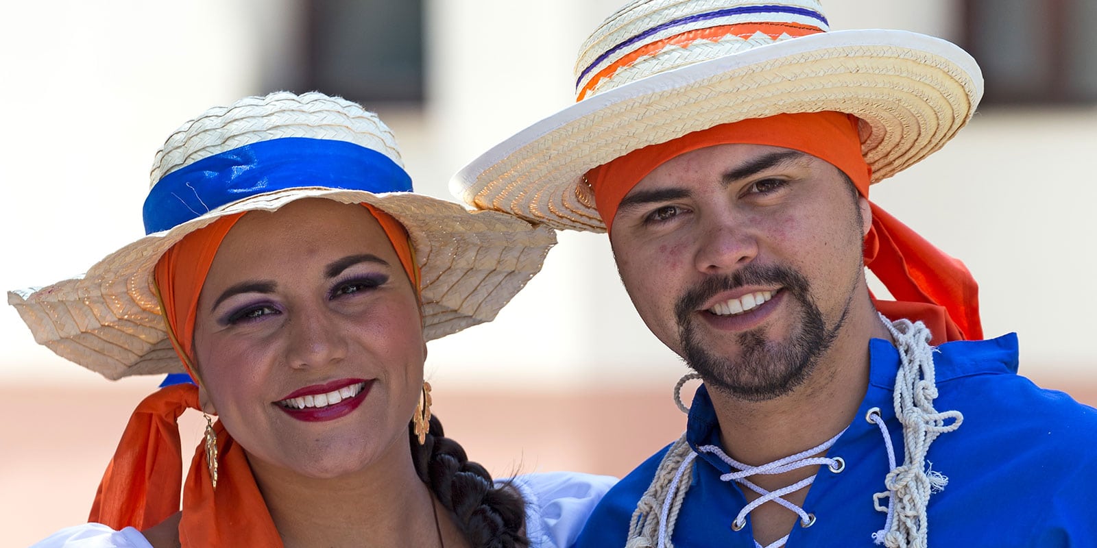
[[[9,2],[0,16],[4,289],[83,272],[144,233],[152,155],[257,79],[252,2]],[[0,380],[94,379],[0,307]]]

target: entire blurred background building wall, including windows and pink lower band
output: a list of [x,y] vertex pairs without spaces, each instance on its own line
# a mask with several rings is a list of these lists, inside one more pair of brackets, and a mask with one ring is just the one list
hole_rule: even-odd
[[[397,135],[420,192],[573,100],[575,54],[620,0],[16,2],[0,15],[0,288],[78,274],[142,235],[152,155],[213,105],[278,89],[342,94]],[[832,28],[904,28],[968,47],[987,100],[874,199],[961,258],[987,336],[1021,373],[1097,403],[1097,3],[825,1]],[[431,343],[437,413],[496,475],[622,475],[677,436],[686,369],[631,307],[601,235],[562,233],[490,324]],[[0,308],[0,530],[25,546],[83,521],[134,406],[34,344]],[[184,446],[200,439],[184,415]],[[189,458],[189,455],[188,455]]]

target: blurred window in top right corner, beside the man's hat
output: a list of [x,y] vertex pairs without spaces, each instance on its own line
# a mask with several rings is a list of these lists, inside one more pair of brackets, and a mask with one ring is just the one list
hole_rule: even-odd
[[985,104],[1097,102],[1097,1],[964,0]]

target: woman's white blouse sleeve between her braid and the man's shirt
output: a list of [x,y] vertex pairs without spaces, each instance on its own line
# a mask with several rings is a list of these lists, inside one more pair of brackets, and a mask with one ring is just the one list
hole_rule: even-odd
[[500,480],[525,500],[525,536],[530,548],[568,548],[587,516],[617,478],[576,472],[542,472]]

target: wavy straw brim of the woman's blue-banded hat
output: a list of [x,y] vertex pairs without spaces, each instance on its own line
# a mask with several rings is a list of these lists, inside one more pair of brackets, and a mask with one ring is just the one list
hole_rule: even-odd
[[9,292],[8,304],[19,310],[35,341],[106,378],[182,372],[152,287],[160,256],[219,217],[275,210],[309,197],[364,202],[404,224],[421,269],[426,340],[494,319],[536,274],[556,241],[547,227],[495,212],[470,213],[422,194],[291,189],[234,202],[146,236],[95,263],[82,277]]

